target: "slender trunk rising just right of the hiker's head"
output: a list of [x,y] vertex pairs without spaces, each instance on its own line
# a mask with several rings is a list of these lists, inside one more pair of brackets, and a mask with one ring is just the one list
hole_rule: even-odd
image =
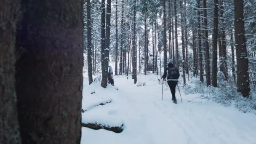
[[175,23],[175,67],[179,69],[179,48],[178,48],[178,30],[177,30],[177,0],[174,0],[174,23]]

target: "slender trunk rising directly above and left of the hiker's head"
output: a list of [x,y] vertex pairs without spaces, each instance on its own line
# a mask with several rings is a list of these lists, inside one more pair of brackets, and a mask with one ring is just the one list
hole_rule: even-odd
[[163,0],[163,68],[167,67],[167,40],[166,40],[166,8],[165,0]]

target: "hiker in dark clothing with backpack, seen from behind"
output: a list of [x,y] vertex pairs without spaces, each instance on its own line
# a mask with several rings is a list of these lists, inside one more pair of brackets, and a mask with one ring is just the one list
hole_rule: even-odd
[[179,70],[173,66],[171,62],[168,63],[168,67],[164,70],[163,79],[167,76],[167,83],[171,89],[172,101],[177,103],[176,100],[176,85],[178,84],[179,80]]

